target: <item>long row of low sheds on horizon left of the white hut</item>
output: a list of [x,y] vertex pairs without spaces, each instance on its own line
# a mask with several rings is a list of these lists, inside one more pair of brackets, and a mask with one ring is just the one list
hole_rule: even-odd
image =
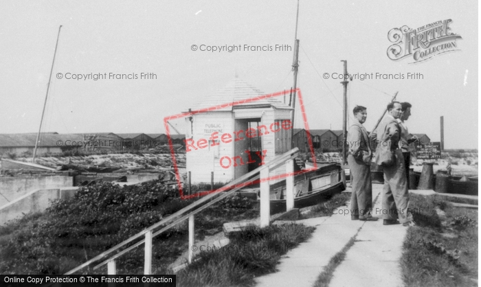
[[[0,154],[5,152],[17,155],[32,153],[36,133],[0,134]],[[173,144],[184,144],[185,135],[170,135]],[[168,144],[165,134],[146,133],[82,133],[59,134],[41,133],[38,138],[37,154],[59,153],[73,148],[88,150],[142,150]]]

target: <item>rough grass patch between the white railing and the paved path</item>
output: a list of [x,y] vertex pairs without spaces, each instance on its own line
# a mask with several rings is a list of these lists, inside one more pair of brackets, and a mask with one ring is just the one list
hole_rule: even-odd
[[311,237],[314,227],[280,225],[249,227],[230,244],[201,252],[195,262],[177,273],[178,286],[253,286],[254,277],[276,272],[282,255]]

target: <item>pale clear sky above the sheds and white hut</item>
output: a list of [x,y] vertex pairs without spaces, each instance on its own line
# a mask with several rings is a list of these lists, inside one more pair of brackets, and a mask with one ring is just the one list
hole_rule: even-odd
[[[0,133],[38,131],[60,25],[45,132],[165,133],[164,117],[187,111],[236,74],[264,93],[290,89],[297,3],[1,1]],[[462,37],[458,51],[415,64],[388,58],[393,28],[447,19]],[[410,133],[439,141],[443,116],[445,148],[478,148],[477,1],[300,0],[298,39],[298,87],[311,129],[342,129],[342,80],[333,73],[343,73],[347,60],[348,73],[374,75],[348,83],[348,111],[366,106],[368,130],[398,92],[398,100],[412,104]],[[225,45],[271,50],[201,51]],[[132,79],[109,79],[110,73]],[[376,79],[376,73],[404,79]],[[77,74],[107,78],[74,79]],[[172,124],[183,132],[181,120]],[[302,125],[298,110],[295,127]]]

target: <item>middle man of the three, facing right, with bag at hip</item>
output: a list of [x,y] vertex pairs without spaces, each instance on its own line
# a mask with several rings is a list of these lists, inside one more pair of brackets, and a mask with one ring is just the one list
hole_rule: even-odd
[[[399,150],[401,127],[396,119],[401,117],[401,113],[400,102],[388,104],[388,115],[377,127],[376,163],[383,167],[384,172],[383,225],[395,225],[399,218],[403,226],[407,227],[414,225],[414,221],[409,210],[404,158]],[[392,154],[394,162],[383,163],[386,154]]]

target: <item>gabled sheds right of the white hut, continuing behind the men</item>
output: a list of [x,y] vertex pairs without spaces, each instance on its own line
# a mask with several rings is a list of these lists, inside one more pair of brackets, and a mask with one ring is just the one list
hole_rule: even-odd
[[[309,152],[309,141],[307,134],[311,135],[312,145],[317,152],[339,152],[342,150],[344,143],[344,135],[342,130],[305,130],[304,128],[295,128],[293,136],[293,146],[299,148],[302,152]],[[430,143],[431,139],[426,134],[416,135],[419,141]],[[410,150],[416,150],[416,143],[410,144]]]

